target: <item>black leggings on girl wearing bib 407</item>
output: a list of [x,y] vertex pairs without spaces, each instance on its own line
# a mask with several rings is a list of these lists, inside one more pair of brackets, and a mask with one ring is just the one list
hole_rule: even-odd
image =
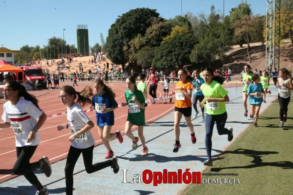
[[93,164],[93,147],[88,147],[84,149],[74,148],[70,146],[66,166],[65,166],[65,182],[66,182],[66,194],[72,194],[73,191],[73,170],[76,161],[78,160],[80,154],[84,158],[84,166],[87,173],[93,173],[98,170],[110,167],[113,164],[112,160],[106,160],[100,163]]

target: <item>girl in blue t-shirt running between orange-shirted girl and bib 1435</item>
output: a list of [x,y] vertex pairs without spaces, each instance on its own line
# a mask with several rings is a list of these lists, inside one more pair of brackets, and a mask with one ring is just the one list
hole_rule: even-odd
[[[192,82],[193,84],[193,95],[192,95],[192,104],[193,104],[193,108],[195,110],[195,114],[193,115],[193,119],[195,119],[198,115],[198,110],[197,110],[197,100],[199,100],[199,102],[202,102],[203,98],[205,98],[205,96],[203,95],[202,91],[200,90],[200,86],[202,84],[205,83],[205,81],[203,80],[203,78],[200,77],[200,71],[198,69],[195,69],[193,71],[193,75],[195,76],[195,81]],[[201,111],[202,111],[202,118],[201,121],[205,121],[205,108],[201,107]]]

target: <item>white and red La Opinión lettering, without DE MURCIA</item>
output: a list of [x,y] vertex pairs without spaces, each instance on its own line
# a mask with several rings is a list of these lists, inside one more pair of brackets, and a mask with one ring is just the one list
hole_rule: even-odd
[[189,172],[190,169],[185,169],[182,173],[182,169],[178,169],[177,172],[168,172],[167,169],[163,169],[163,172],[152,172],[147,169],[142,172],[142,176],[134,174],[132,180],[127,181],[128,169],[122,169],[123,171],[123,182],[122,183],[142,183],[158,186],[158,184],[200,184],[201,183],[201,172]]

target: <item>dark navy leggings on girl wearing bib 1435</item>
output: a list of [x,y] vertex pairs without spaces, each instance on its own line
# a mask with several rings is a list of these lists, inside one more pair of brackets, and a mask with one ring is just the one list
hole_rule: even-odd
[[219,135],[230,134],[230,131],[225,128],[227,117],[227,112],[218,115],[205,114],[205,148],[207,150],[208,159],[212,159],[212,135],[215,122]]

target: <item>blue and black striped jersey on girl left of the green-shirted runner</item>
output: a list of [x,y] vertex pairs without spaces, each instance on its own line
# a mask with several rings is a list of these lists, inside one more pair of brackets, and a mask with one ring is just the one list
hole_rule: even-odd
[[92,98],[92,105],[96,110],[96,121],[97,126],[105,126],[105,125],[114,125],[114,111],[99,113],[100,109],[105,107],[112,108],[117,107],[118,104],[116,100],[111,97],[108,93],[104,92],[103,94],[96,93]]

